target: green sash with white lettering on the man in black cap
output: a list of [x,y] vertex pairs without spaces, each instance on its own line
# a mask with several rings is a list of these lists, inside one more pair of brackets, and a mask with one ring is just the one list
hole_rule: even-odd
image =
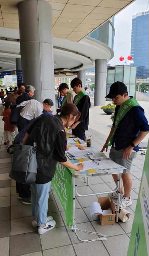
[[119,109],[119,112],[117,114],[117,117],[116,117],[116,121],[115,121],[115,127],[114,127],[114,132],[110,138],[110,142],[108,144],[106,144],[107,146],[111,146],[112,143],[113,143],[113,136],[115,134],[115,131],[118,127],[118,123],[123,119],[123,117],[126,115],[126,113],[133,107],[135,106],[139,106],[139,103],[136,101],[136,99],[128,99],[127,101],[125,101],[120,109]]

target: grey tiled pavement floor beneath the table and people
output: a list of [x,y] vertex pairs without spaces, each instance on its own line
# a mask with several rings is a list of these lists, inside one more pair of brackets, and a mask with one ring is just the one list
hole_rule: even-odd
[[[147,113],[147,104],[142,103]],[[87,135],[92,135],[92,145],[101,150],[111,127],[110,116],[100,107],[90,111],[90,125]],[[145,138],[147,140],[148,138]],[[97,216],[90,217],[90,203],[97,201],[96,196],[76,198],[76,222],[78,229],[96,231],[107,235],[107,241],[83,243],[76,234],[65,225],[63,208],[56,193],[51,191],[48,214],[56,220],[56,227],[43,235],[37,234],[37,228],[31,226],[31,205],[24,205],[16,194],[15,182],[9,178],[11,156],[3,145],[3,122],[0,121],[0,255],[1,256],[126,256],[129,245],[132,221],[139,192],[144,156],[138,153],[131,169],[132,205],[127,207],[130,221],[101,226]],[[106,153],[108,155],[108,152]],[[111,175],[93,177],[86,186],[83,179],[76,184],[80,193],[92,193],[114,188]],[[78,231],[81,239],[96,238],[95,235]]]

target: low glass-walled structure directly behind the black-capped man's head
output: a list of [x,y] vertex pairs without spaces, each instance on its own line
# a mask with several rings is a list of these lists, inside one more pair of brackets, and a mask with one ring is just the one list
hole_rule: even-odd
[[[119,65],[107,68],[106,95],[109,94],[110,86],[115,82],[125,83],[129,96],[135,96],[136,67]],[[112,100],[112,99],[106,99]]]

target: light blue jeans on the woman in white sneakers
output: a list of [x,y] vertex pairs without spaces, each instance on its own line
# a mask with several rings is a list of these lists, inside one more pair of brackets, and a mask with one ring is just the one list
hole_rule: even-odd
[[45,184],[31,184],[31,210],[32,217],[37,218],[37,226],[46,223],[50,190],[51,181]]

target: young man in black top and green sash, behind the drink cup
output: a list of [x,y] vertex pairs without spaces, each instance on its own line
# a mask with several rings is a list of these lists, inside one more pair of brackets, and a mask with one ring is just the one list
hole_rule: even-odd
[[89,126],[89,109],[90,109],[90,97],[83,91],[81,80],[76,77],[71,81],[71,87],[77,94],[73,100],[73,103],[77,106],[81,112],[79,120],[71,125],[72,133],[78,136],[83,141],[86,141],[85,131]]

